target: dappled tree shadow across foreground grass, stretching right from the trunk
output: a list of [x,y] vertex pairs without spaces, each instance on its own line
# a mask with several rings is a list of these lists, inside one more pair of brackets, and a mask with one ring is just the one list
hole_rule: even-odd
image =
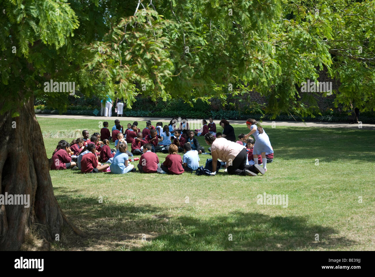
[[[114,250],[124,243],[133,250],[342,250],[356,241],[331,227],[312,225],[304,216],[230,212],[212,217],[172,217],[169,208],[135,205],[129,199],[112,202],[80,194],[57,196],[68,218],[87,239],[67,243],[68,249]],[[142,234],[151,243],[142,244]],[[319,241],[316,241],[317,234]],[[230,240],[230,238],[232,240]],[[87,242],[89,241],[89,242]],[[127,249],[127,247],[126,247]]]

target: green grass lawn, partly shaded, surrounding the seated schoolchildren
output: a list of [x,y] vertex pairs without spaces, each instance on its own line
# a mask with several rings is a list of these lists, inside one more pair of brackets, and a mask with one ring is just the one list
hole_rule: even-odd
[[[37,119],[43,132],[88,129],[91,135],[102,128],[99,120]],[[248,132],[233,127],[236,135]],[[263,176],[50,171],[58,203],[88,235],[67,230],[52,249],[374,250],[374,131],[264,129],[275,159]],[[48,158],[60,139],[44,139]],[[166,154],[158,155],[162,163]],[[210,157],[200,155],[200,165]],[[288,195],[288,207],[258,205],[264,192]]]

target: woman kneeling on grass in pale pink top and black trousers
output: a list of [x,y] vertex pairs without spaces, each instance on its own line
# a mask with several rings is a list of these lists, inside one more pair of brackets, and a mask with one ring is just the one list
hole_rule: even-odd
[[264,169],[258,164],[246,165],[248,154],[246,147],[231,142],[226,138],[216,138],[211,134],[204,135],[205,142],[211,147],[212,168],[216,168],[217,159],[226,162],[228,174],[256,176],[264,174]]

